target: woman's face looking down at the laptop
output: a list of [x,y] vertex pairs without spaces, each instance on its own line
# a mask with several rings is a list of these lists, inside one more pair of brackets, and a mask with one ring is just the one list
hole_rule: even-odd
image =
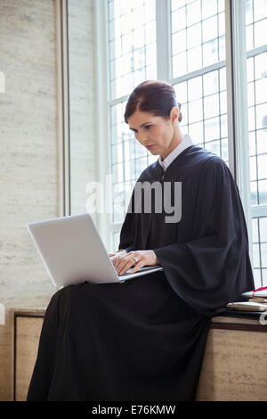
[[[178,114],[176,116],[178,118]],[[155,117],[150,112],[135,111],[128,118],[128,124],[140,144],[151,154],[165,158],[174,139],[174,121]]]

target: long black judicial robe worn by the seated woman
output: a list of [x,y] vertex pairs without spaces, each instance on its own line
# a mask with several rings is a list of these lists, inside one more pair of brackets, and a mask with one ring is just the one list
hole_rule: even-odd
[[129,211],[119,248],[154,250],[164,271],[56,292],[28,400],[196,398],[211,316],[254,289],[239,190],[225,162],[196,145],[165,172],[150,165],[146,181],[182,182],[182,218]]

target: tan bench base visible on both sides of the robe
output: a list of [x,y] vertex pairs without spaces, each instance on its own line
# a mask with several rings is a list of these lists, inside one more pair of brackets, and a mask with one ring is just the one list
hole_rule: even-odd
[[[36,362],[44,309],[13,313],[14,400],[25,400]],[[244,318],[213,318],[197,399],[267,400],[267,325]]]

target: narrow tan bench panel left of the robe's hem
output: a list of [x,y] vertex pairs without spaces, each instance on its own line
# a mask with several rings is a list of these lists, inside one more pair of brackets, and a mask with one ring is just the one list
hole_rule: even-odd
[[26,400],[28,384],[36,362],[42,317],[16,318],[15,399]]

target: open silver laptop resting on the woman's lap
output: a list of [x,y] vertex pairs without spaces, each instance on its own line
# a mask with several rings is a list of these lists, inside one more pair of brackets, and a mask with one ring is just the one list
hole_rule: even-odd
[[151,274],[163,267],[131,268],[117,275],[90,214],[47,219],[27,225],[54,285],[59,287],[89,283],[121,283],[136,276]]

